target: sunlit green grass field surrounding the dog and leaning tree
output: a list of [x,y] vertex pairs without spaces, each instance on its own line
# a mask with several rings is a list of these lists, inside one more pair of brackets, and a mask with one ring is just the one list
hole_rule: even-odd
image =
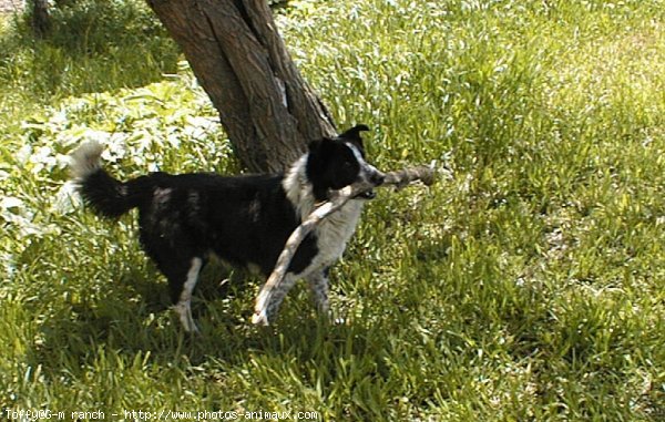
[[[663,419],[662,1],[291,2],[280,28],[337,122],[374,127],[381,168],[436,159],[441,179],[367,207],[332,272],[344,323],[313,318],[297,288],[257,330],[260,280],[219,287],[211,270],[198,338],[165,311],[133,218],[99,220],[65,183],[88,137],[123,177],[237,171],[130,4],[122,39],[84,27],[96,50],[3,30],[3,409]],[[157,32],[140,42],[129,22]]]

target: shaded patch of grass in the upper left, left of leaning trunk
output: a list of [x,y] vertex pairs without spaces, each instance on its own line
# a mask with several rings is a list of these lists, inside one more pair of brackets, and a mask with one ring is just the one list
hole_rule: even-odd
[[40,101],[143,86],[177,70],[177,47],[142,2],[84,0],[54,8],[43,39],[32,35],[27,18],[6,19],[0,82]]

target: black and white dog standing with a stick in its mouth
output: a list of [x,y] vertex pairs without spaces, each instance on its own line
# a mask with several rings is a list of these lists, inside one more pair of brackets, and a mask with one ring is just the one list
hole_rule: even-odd
[[[71,156],[72,175],[84,202],[96,214],[119,217],[139,208],[145,253],[168,279],[171,297],[187,331],[192,291],[209,254],[267,276],[291,231],[329,192],[356,182],[383,183],[385,175],[365,161],[357,125],[336,138],[311,142],[286,174],[225,177],[211,173],[152,173],[127,182],[101,166],[102,145],[88,142]],[[328,312],[328,268],[354,234],[368,193],[328,217],[298,248],[284,288],[273,296],[274,316],[296,280],[308,281],[319,311]]]

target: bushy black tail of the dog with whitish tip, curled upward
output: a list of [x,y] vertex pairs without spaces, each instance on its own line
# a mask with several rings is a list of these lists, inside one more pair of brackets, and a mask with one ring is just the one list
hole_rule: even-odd
[[145,177],[121,182],[102,167],[104,147],[96,141],[83,143],[70,158],[70,171],[85,204],[109,218],[116,218],[141,204]]

